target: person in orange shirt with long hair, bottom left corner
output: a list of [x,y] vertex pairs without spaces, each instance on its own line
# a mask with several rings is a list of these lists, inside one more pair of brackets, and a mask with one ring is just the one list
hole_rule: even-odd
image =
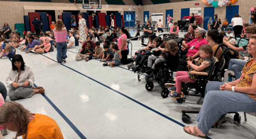
[[32,114],[15,101],[0,107],[0,126],[16,132],[15,139],[18,136],[23,139],[63,139],[55,120],[43,114]]

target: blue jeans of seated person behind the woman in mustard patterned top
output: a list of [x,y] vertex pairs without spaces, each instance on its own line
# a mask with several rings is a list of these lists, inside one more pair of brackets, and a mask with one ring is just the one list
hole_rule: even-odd
[[246,60],[231,59],[228,64],[228,70],[233,71],[235,73],[236,79],[239,79],[242,75],[241,71],[243,70],[246,63]]

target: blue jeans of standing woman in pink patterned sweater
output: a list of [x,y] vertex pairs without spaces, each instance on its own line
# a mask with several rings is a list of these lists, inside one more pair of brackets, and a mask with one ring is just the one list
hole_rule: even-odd
[[62,58],[67,58],[67,42],[56,42],[57,61],[62,62]]

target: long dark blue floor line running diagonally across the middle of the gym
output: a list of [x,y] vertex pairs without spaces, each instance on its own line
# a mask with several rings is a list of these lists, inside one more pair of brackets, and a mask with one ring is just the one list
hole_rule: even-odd
[[[41,53],[40,53],[40,54],[41,54]],[[44,56],[43,54],[41,54],[41,55]],[[47,57],[47,56],[44,56],[44,57],[49,58],[49,57]],[[55,61],[55,60],[53,60],[52,58],[49,58],[49,59],[51,59],[52,61]],[[55,61],[55,62],[58,63],[57,61]],[[64,64],[61,64],[61,65],[64,66],[64,67],[67,67],[67,66],[64,65]],[[122,96],[128,98],[129,100],[134,101],[135,103],[137,103],[137,104],[139,104],[139,105],[141,105],[141,106],[143,106],[143,107],[145,107],[145,108],[147,108],[147,109],[149,109],[149,110],[155,112],[156,114],[159,114],[160,116],[162,116],[162,117],[164,117],[164,118],[166,118],[166,119],[168,119],[168,120],[170,120],[170,121],[172,121],[172,122],[175,122],[176,124],[178,124],[178,125],[180,125],[180,126],[182,126],[182,127],[185,126],[185,125],[183,125],[182,123],[180,123],[180,122],[178,122],[178,121],[176,121],[176,120],[174,120],[174,119],[172,119],[172,118],[170,118],[170,117],[168,117],[168,116],[166,116],[166,115],[164,115],[164,114],[162,114],[162,113],[160,113],[160,112],[154,110],[153,108],[150,108],[150,107],[144,105],[143,103],[140,103],[140,102],[137,101],[137,100],[134,100],[134,99],[131,98],[131,97],[128,97],[127,95],[122,94],[121,92],[116,91],[115,89],[112,89],[111,87],[109,87],[109,86],[107,86],[107,85],[105,85],[105,84],[103,84],[103,83],[101,83],[101,82],[99,82],[99,81],[94,80],[93,78],[90,78],[90,77],[87,76],[87,75],[84,75],[83,73],[81,73],[81,72],[79,72],[79,71],[77,71],[77,70],[75,70],[75,69],[72,69],[72,68],[70,68],[70,67],[67,67],[67,68],[73,70],[74,72],[77,72],[77,73],[83,75],[83,76],[86,77],[86,78],[89,78],[89,79],[92,80],[92,81],[95,81],[96,83],[99,83],[99,84],[102,85],[102,86],[105,86],[105,87],[108,88],[108,89],[111,89],[112,91],[114,91],[114,92],[116,92],[116,93],[118,93],[118,94],[120,94],[120,95],[122,95]],[[211,139],[211,138],[207,137],[207,139]]]

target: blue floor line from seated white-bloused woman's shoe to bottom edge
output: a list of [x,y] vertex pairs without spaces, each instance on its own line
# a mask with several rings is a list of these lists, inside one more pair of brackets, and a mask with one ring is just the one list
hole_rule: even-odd
[[[9,60],[12,61],[10,58]],[[34,83],[34,86],[38,87],[35,85],[35,83]],[[61,112],[60,109],[58,109],[58,107],[54,103],[52,103],[52,101],[45,94],[41,94],[41,95],[48,101],[48,103],[51,104],[51,106],[58,112],[58,114],[61,115],[61,117],[67,122],[68,125],[70,125],[70,127],[77,133],[77,135],[81,139],[86,139],[86,137],[79,131],[79,129],[76,128],[76,126]]]

